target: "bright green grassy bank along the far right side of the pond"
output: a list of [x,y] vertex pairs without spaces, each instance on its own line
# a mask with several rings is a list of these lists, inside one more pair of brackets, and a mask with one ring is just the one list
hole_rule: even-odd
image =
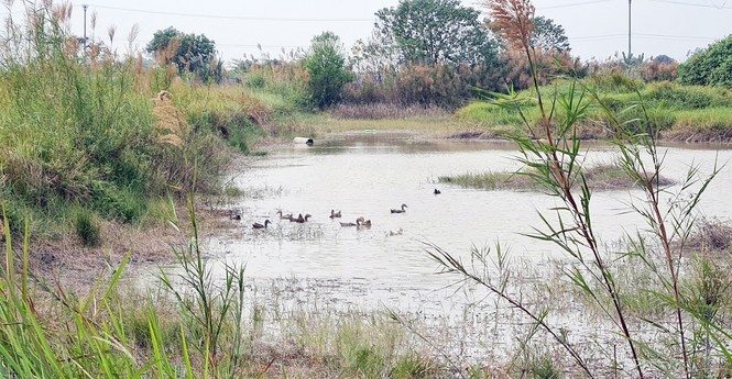
[[[653,126],[662,138],[688,142],[729,142],[732,130],[732,91],[724,88],[681,86],[671,82],[644,83],[620,75],[589,78],[582,87],[598,94],[600,103],[591,101],[589,92],[583,98],[589,107],[576,123],[578,135],[583,138],[604,137],[612,133],[616,116],[621,123],[641,131]],[[544,98],[555,91],[567,93],[569,81],[559,80],[542,87]],[[516,103],[531,105],[535,101],[532,90],[516,94]],[[558,120],[564,118],[558,109]],[[608,112],[610,111],[610,112]],[[536,124],[539,111],[535,107],[523,110],[529,123]],[[517,109],[499,108],[487,102],[474,102],[456,112],[466,123],[472,123],[500,133],[522,123]]]

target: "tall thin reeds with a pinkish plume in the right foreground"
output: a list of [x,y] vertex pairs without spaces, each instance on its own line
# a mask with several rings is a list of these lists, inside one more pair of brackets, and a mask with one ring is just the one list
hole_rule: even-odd
[[[662,127],[651,115],[640,90],[633,89],[638,99],[633,104],[638,119],[627,122],[621,122],[616,113],[602,102],[601,93],[587,82],[569,80],[568,86],[555,86],[547,93],[539,88],[536,53],[528,43],[534,14],[531,2],[491,0],[488,8],[495,32],[526,55],[534,81],[532,99],[521,99],[513,91],[507,96],[490,93],[493,104],[518,114],[522,120],[518,127],[506,134],[518,147],[518,160],[528,168],[517,174],[529,177],[558,203],[547,212],[539,212],[542,225],[534,227],[535,232],[528,236],[548,242],[566,254],[569,259],[568,268],[564,270],[566,278],[614,325],[626,345],[631,367],[625,368],[616,358],[600,367],[590,366],[566,333],[548,321],[549,309],[546,305],[532,306],[513,294],[510,289],[520,283],[511,282],[504,274],[506,258],[500,246],[495,257],[485,252],[472,252],[470,264],[463,264],[459,257],[437,246],[433,246],[430,256],[443,266],[444,271],[478,283],[512,308],[521,310],[533,321],[534,327],[547,333],[588,377],[618,369],[623,375],[640,378],[659,375],[696,377],[702,365],[691,359],[692,356],[700,358],[700,355],[689,346],[690,325],[697,325],[693,328],[696,335],[703,334],[713,341],[714,348],[711,350],[714,353],[707,355],[703,364],[709,366],[721,360],[729,366],[732,363],[728,353],[730,334],[721,323],[709,316],[710,309],[692,305],[698,303],[692,300],[700,297],[698,292],[706,293],[701,298],[718,299],[715,293],[723,286],[712,285],[713,270],[704,266],[701,266],[700,275],[707,279],[701,281],[704,285],[696,285],[697,294],[685,292],[681,285],[681,271],[686,268],[684,256],[691,253],[686,248],[687,242],[699,215],[697,205],[720,167],[715,165],[710,175],[701,176],[699,168],[692,166],[681,189],[671,191],[668,185],[662,182],[660,176],[664,154],[658,148],[657,140]],[[598,237],[599,230],[592,222],[592,190],[588,185],[588,169],[583,167],[577,127],[591,104],[599,107],[611,121],[609,143],[615,147],[618,165],[635,183],[636,191],[642,193],[637,196],[634,192],[633,199],[642,201],[630,202],[629,207],[645,220],[648,233],[630,232],[621,254],[603,248]],[[538,115],[529,119],[524,111],[526,107],[535,107]],[[624,287],[622,278],[625,272],[620,270],[618,261],[631,263],[635,270],[649,278],[652,286],[640,289]],[[490,269],[492,265],[496,265],[498,274]],[[656,320],[637,316],[624,302],[627,293],[633,291],[651,294],[669,312],[660,312]],[[667,317],[674,320],[674,326],[660,327]],[[643,333],[648,331],[659,333],[667,343],[659,344],[659,339],[648,338]],[[693,338],[702,339],[698,336]],[[614,352],[605,354],[616,357]]]

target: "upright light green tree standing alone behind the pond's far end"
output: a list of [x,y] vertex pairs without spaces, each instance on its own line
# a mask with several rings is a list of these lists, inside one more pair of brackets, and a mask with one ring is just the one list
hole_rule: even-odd
[[310,76],[308,88],[318,108],[335,103],[343,85],[352,80],[351,73],[346,70],[343,44],[332,32],[313,38],[303,65]]

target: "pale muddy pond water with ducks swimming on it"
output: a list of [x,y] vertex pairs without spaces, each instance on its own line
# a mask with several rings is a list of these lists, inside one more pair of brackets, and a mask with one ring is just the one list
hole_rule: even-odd
[[[609,163],[615,156],[610,146],[588,146],[588,164]],[[693,164],[709,172],[714,159],[723,163],[732,157],[730,151],[713,148],[663,151],[665,175],[679,181]],[[514,264],[527,268],[525,280],[542,279],[551,268],[549,260],[564,255],[522,234],[540,225],[537,211],[557,203],[536,192],[462,189],[437,183],[437,178],[515,170],[515,157],[514,146],[505,142],[420,142],[390,133],[286,146],[232,178],[245,193],[232,205],[242,210],[242,220],[236,232],[210,238],[208,246],[227,261],[245,263],[263,298],[272,298],[274,288],[283,293],[286,287],[289,300],[299,303],[390,308],[448,324],[457,320],[463,326],[477,325],[477,319],[495,315],[472,305],[482,298],[480,291],[446,289],[458,278],[436,275],[438,266],[428,257],[426,244],[467,257],[472,247],[500,241]],[[434,194],[435,188],[441,193]],[[679,189],[674,186],[669,191]],[[708,215],[730,216],[730,189],[732,175],[723,170],[704,196],[702,209]],[[593,223],[604,243],[612,245],[624,233],[644,227],[636,214],[627,212],[626,204],[638,196],[627,190],[594,193]],[[390,212],[402,203],[407,205],[405,213]],[[341,211],[342,218],[330,219],[331,209]],[[313,216],[307,223],[293,223],[280,220],[277,210]],[[370,228],[339,224],[361,215],[372,221]],[[273,222],[266,230],[250,226],[264,220]]]

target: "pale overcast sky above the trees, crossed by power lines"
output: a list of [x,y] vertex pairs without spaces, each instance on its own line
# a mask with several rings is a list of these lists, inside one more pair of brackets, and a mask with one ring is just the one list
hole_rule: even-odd
[[[632,52],[646,57],[660,54],[686,59],[689,52],[707,47],[732,34],[732,0],[632,0]],[[15,3],[21,3],[15,1]],[[373,31],[374,13],[396,7],[398,0],[89,0],[73,1],[73,30],[81,35],[84,10],[97,13],[96,38],[107,38],[117,27],[119,53],[138,24],[138,48],[144,48],[155,31],[173,26],[185,33],[205,34],[216,42],[220,56],[230,62],[261,55],[277,57],[282,51],[306,48],[313,36],[331,31],[350,51]],[[484,10],[481,1],[463,4]],[[534,0],[536,14],[562,25],[572,54],[582,60],[603,60],[627,51],[626,0]],[[15,4],[17,9],[19,4]],[[13,12],[15,13],[15,12]],[[7,14],[7,10],[0,11]]]

